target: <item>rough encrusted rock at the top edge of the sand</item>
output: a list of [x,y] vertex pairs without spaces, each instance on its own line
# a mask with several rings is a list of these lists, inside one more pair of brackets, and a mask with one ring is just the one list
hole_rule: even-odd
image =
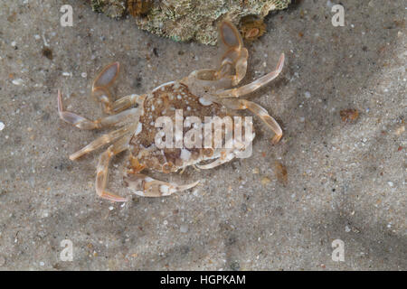
[[291,0],[144,1],[149,7],[139,14],[137,2],[140,1],[92,0],[91,5],[93,10],[113,18],[134,12],[141,29],[175,41],[215,44],[217,24],[222,19],[227,18],[236,25],[247,15],[257,15],[262,19],[270,11],[287,8]]

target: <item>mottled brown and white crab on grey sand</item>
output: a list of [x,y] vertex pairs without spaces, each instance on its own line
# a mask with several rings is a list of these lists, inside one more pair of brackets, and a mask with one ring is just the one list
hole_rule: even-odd
[[[58,113],[65,122],[80,129],[99,129],[107,126],[116,127],[106,135],[101,135],[78,152],[71,154],[70,159],[76,160],[84,154],[109,144],[108,149],[100,155],[96,170],[95,189],[99,197],[117,202],[128,198],[107,191],[108,170],[111,158],[124,151],[129,151],[128,165],[124,173],[124,183],[131,191],[143,197],[169,196],[177,191],[193,188],[198,182],[177,184],[163,182],[143,173],[147,170],[156,172],[184,172],[188,166],[198,169],[211,169],[235,158],[247,143],[220,148],[213,145],[205,147],[175,147],[160,149],[155,140],[158,128],[155,122],[158,117],[175,119],[175,112],[182,109],[183,117],[231,116],[232,112],[248,109],[270,127],[274,132],[271,142],[276,144],[282,136],[279,124],[263,107],[241,97],[265,86],[276,79],[284,64],[284,53],[279,57],[275,70],[256,79],[250,84],[237,86],[244,78],[247,70],[248,51],[243,46],[241,34],[229,21],[219,25],[222,59],[215,70],[194,70],[184,79],[174,80],[158,86],[150,92],[132,94],[113,101],[110,87],[118,77],[119,63],[114,62],[101,70],[94,79],[91,95],[101,103],[109,116],[97,120],[66,111],[62,105],[62,93],[58,90]],[[250,137],[251,144],[252,135]],[[175,135],[176,136],[176,135]],[[213,160],[212,163],[203,161]]]

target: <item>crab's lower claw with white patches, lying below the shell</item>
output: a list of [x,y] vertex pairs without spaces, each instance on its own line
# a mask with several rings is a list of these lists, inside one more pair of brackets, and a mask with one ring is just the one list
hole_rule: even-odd
[[178,185],[175,182],[162,182],[148,177],[142,173],[128,173],[124,178],[126,186],[142,197],[163,197],[169,196],[176,191],[185,191],[194,188],[199,181],[185,185]]

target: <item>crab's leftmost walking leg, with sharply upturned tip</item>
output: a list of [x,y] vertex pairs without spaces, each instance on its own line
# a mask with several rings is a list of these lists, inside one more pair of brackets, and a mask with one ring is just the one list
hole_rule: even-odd
[[138,108],[128,109],[126,111],[120,112],[117,115],[109,117],[101,117],[97,120],[89,120],[85,117],[80,117],[79,115],[63,110],[62,105],[62,95],[61,91],[58,90],[58,113],[61,119],[73,126],[76,126],[80,129],[95,129],[101,128],[104,126],[113,126],[118,125],[123,121],[126,121],[129,116],[137,115]]

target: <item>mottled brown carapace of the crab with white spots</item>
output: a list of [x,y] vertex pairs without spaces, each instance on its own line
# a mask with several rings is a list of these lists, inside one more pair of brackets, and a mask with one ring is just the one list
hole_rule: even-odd
[[[137,172],[147,167],[159,172],[176,172],[180,168],[199,160],[213,156],[213,150],[204,148],[164,148],[156,147],[156,134],[161,129],[155,126],[157,117],[170,117],[175,124],[175,111],[181,109],[183,121],[186,117],[228,116],[225,107],[212,103],[190,92],[187,86],[179,81],[173,81],[153,90],[144,102],[143,115],[139,119],[139,131],[130,140],[130,171]],[[203,125],[204,126],[204,125]],[[184,127],[183,135],[191,129]],[[175,141],[175,140],[174,140]],[[202,140],[204,142],[204,138]],[[136,164],[134,160],[137,159]],[[133,162],[132,162],[133,160]]]

